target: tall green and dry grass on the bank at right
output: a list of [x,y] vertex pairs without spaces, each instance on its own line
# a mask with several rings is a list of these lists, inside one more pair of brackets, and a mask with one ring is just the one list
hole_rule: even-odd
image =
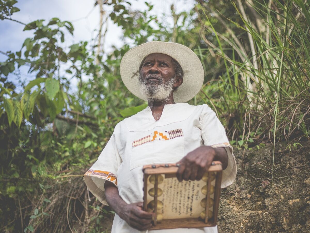
[[[201,102],[207,96],[227,118],[230,138],[240,146],[310,139],[310,1],[230,1],[238,22],[201,4],[201,26],[216,43],[201,37],[224,60],[224,72],[203,87]],[[224,30],[215,30],[210,15]],[[231,26],[244,32],[243,40]]]

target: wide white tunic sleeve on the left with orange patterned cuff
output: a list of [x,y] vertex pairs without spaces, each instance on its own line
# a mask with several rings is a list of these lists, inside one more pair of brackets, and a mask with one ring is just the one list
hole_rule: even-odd
[[99,201],[105,205],[104,183],[106,180],[112,182],[117,187],[117,170],[122,159],[118,153],[116,140],[119,128],[115,127],[113,135],[101,152],[98,160],[84,174],[84,181],[87,188]]

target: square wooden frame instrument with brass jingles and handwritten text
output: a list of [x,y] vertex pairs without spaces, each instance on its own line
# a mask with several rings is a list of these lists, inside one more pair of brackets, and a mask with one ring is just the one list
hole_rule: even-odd
[[143,167],[143,209],[156,215],[150,229],[215,226],[222,180],[221,162],[212,162],[202,179],[195,181],[179,182],[176,178],[178,168],[175,163]]

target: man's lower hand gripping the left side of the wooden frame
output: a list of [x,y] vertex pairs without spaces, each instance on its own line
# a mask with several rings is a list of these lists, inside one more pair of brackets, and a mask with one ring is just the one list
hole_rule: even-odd
[[120,217],[132,228],[139,231],[146,231],[152,226],[152,217],[154,213],[144,211],[142,206],[142,202],[127,204],[120,214]]

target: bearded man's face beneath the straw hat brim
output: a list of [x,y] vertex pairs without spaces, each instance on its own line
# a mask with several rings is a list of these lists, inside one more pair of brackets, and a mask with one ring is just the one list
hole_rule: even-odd
[[168,98],[175,83],[175,66],[170,56],[152,53],[145,57],[140,70],[141,92],[147,98],[162,100]]

